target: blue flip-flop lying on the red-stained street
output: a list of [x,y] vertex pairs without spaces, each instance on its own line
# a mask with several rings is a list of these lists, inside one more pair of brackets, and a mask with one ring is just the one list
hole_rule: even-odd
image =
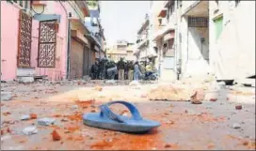
[[[113,113],[108,106],[122,104],[132,113],[132,117]],[[100,106],[100,113],[84,113],[83,122],[85,125],[94,128],[104,128],[122,132],[141,133],[157,128],[160,123],[143,119],[136,109],[136,106],[126,101],[111,101]]]

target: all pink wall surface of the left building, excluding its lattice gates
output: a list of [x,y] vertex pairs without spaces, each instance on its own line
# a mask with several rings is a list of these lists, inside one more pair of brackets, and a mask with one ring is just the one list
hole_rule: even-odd
[[[61,15],[59,30],[56,34],[56,68],[37,68],[39,22],[36,20],[33,20],[32,23],[31,67],[36,68],[37,75],[48,75],[50,80],[65,79],[68,46],[67,15],[59,2],[45,2],[47,2],[47,6],[49,6],[49,8],[44,12],[44,14]],[[1,20],[4,21],[1,22],[1,80],[5,81],[16,78],[19,10],[19,8],[8,4],[6,1],[1,1]],[[10,16],[11,18],[9,18]]]

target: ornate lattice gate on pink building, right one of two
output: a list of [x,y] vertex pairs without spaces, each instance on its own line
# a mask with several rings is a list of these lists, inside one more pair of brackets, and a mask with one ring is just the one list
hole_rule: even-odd
[[38,67],[56,67],[56,20],[40,22]]

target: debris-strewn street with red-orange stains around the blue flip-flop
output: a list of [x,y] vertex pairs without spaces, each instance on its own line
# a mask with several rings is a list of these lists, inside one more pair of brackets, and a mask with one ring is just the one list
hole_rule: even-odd
[[[1,101],[1,149],[255,149],[254,88],[189,81],[108,82],[2,83],[2,93],[10,93],[11,98]],[[205,89],[205,100],[201,104],[149,100],[149,92],[159,85],[188,91],[196,85],[193,88]],[[98,106],[105,101],[119,99],[134,102],[143,117],[159,121],[161,126],[148,134],[128,134],[83,124],[83,113],[99,112]],[[242,109],[236,110],[237,105]],[[122,106],[114,110],[129,115]],[[21,120],[26,114],[30,118]],[[55,123],[40,126],[38,120],[44,117],[55,119]],[[38,132],[26,136],[23,129],[28,127],[36,127]],[[60,141],[53,140],[54,129]]]

